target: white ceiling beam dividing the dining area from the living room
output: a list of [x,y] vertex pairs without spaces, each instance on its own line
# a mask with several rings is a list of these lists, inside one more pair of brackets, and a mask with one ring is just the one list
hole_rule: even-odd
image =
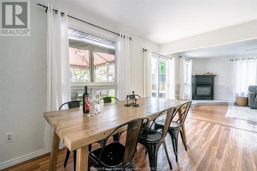
[[160,45],[160,53],[182,52],[256,37],[257,20],[162,44]]

